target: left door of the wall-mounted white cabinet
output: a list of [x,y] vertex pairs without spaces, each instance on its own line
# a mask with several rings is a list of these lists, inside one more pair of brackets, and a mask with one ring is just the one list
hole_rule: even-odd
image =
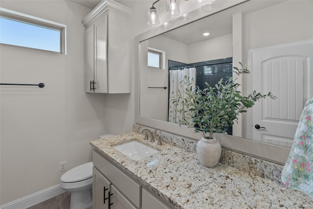
[[86,39],[86,67],[85,67],[85,91],[93,92],[93,70],[94,70],[94,27],[90,25],[86,28],[85,31],[85,39]]

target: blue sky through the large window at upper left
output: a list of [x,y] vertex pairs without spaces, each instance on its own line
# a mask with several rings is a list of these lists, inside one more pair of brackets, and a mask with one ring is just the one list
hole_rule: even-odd
[[0,17],[0,43],[60,52],[61,31]]

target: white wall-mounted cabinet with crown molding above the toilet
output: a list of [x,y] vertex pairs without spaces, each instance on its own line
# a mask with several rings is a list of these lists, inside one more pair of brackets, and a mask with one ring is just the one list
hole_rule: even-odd
[[131,93],[132,10],[101,1],[82,21],[85,30],[85,91]]

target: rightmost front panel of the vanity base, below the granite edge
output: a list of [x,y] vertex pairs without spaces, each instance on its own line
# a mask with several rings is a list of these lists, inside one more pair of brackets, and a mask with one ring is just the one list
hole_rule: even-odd
[[142,209],[171,209],[155,195],[146,189],[142,189]]

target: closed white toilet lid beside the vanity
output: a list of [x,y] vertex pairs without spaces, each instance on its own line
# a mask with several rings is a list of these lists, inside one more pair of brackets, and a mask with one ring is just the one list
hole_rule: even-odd
[[64,183],[80,182],[91,178],[92,166],[93,163],[89,162],[70,169],[61,176],[61,182]]

